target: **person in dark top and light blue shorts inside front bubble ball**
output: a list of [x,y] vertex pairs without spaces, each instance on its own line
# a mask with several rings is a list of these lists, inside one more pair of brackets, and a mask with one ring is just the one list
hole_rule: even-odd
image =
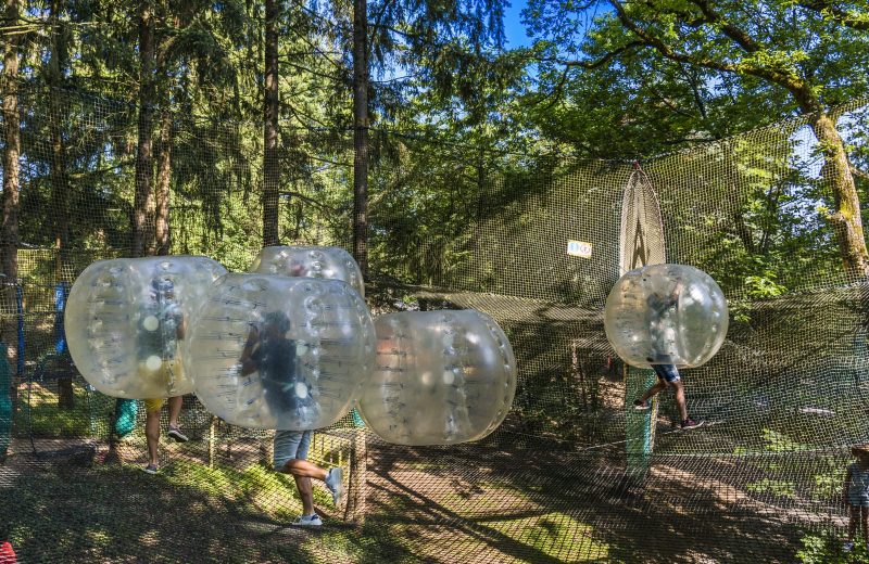
[[[290,320],[281,311],[265,316],[263,328],[251,323],[248,339],[241,354],[241,374],[260,373],[265,402],[276,415],[297,412],[301,419],[316,415],[316,402],[308,393],[310,386],[298,376],[298,343],[289,338]],[[323,521],[314,512],[314,491],[311,479],[319,479],[332,493],[335,505],[341,502],[343,470],[325,470],[307,461],[311,431],[276,431],[274,439],[274,467],[292,475],[302,498],[302,515],[294,525],[319,526]]]

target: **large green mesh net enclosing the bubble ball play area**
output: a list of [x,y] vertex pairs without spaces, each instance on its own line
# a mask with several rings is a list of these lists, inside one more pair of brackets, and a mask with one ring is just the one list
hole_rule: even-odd
[[[632,163],[371,130],[371,311],[491,315],[518,388],[479,443],[390,445],[351,414],[318,432],[312,460],[347,469],[348,496],[335,508],[317,486],[325,526],[311,530],[289,525],[301,502],[270,469],[273,432],[227,425],[193,396],[181,412],[191,440],[164,434],[158,475],[139,471],[141,406],[110,451],[115,401],[71,363],[60,312],[87,265],[131,253],[138,108],[26,85],[17,98],[0,525],[20,562],[869,561],[859,541],[842,549],[849,448],[869,441],[869,284],[842,268],[809,118],[641,163],[668,261],[711,274],[731,308],[720,352],[683,374],[706,421],[690,433],[673,425],[669,395],[651,420],[629,409],[643,376],[603,331]],[[835,115],[865,166],[869,105]],[[262,125],[165,117],[153,182],[168,195],[171,253],[245,270],[262,242]],[[352,131],[282,128],[282,243],[350,247],[352,163]],[[154,233],[161,197],[148,203]],[[590,256],[568,255],[569,241]],[[627,456],[640,427],[642,467]]]

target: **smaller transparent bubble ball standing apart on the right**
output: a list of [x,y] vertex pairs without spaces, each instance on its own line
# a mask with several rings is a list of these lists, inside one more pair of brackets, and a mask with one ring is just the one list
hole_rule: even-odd
[[652,265],[621,277],[604,309],[606,337],[640,368],[708,361],[725,342],[727,299],[707,273],[685,265]]

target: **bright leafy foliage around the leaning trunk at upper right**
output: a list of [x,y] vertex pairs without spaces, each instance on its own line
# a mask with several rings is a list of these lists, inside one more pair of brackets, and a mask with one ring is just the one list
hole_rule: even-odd
[[[869,17],[865,3],[846,4],[849,17]],[[853,69],[869,64],[869,38],[818,5],[532,0],[524,17],[537,38],[528,56],[538,88],[522,93],[524,126],[581,155],[637,158],[865,98],[869,78]],[[734,159],[720,163],[719,178],[692,179],[708,182],[716,202],[750,184],[740,208],[709,209],[700,221],[673,218],[681,235],[708,236],[703,255],[680,259],[726,292],[747,283],[752,297],[777,295],[840,271],[849,256],[836,247],[830,221],[837,202],[851,197],[837,191],[849,189],[823,187],[798,158],[805,136],[782,133],[769,145],[753,138],[729,146]],[[859,144],[849,148],[852,161],[862,158]],[[837,146],[824,140],[810,151],[823,159]],[[869,178],[865,158],[861,165],[856,176]]]

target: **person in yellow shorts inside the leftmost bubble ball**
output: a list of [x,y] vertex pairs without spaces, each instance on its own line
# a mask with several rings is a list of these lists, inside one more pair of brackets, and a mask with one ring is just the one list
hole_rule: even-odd
[[[185,335],[184,313],[175,299],[175,284],[171,278],[156,278],[151,282],[148,305],[141,318],[139,341],[139,371],[144,377],[153,377],[158,372],[169,389],[173,383],[184,377],[181,359],[178,355],[178,341]],[[158,447],[160,445],[160,412],[166,402],[164,398],[144,400],[144,436],[148,443],[148,464],[142,469],[155,474],[160,467]],[[184,396],[168,398],[168,437],[178,443],[187,443],[181,433],[178,416],[181,413]]]

